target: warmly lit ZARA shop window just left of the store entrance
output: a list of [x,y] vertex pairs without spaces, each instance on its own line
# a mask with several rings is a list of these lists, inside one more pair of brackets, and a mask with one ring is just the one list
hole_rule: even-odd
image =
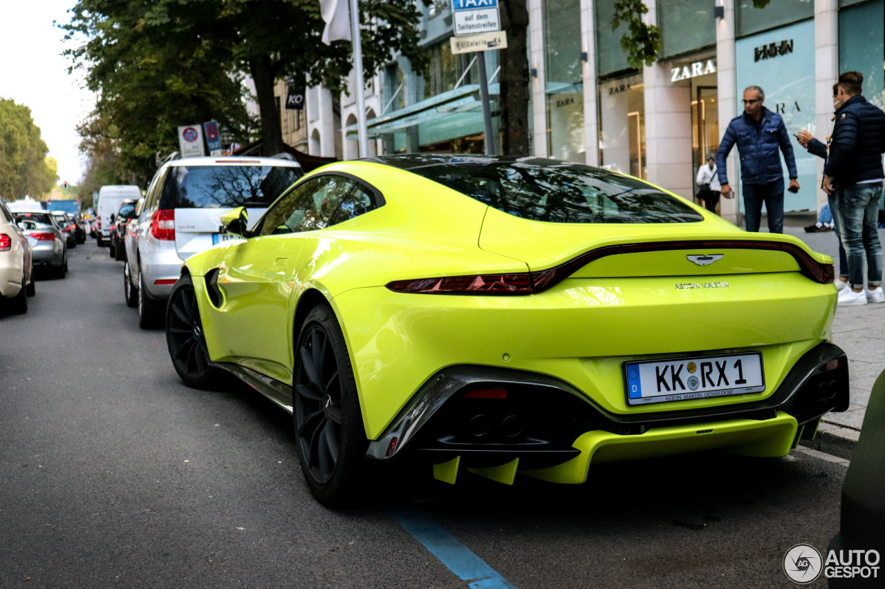
[[645,91],[643,76],[599,84],[599,165],[643,180]]

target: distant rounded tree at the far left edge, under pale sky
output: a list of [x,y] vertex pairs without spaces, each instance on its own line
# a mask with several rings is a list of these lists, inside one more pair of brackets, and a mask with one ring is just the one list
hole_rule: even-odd
[[46,195],[58,180],[31,109],[0,98],[0,196],[19,200]]

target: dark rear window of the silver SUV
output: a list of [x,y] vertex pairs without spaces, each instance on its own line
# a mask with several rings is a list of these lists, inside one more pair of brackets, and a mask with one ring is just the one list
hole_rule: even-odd
[[173,166],[166,175],[160,208],[264,208],[301,176],[301,168],[288,166]]

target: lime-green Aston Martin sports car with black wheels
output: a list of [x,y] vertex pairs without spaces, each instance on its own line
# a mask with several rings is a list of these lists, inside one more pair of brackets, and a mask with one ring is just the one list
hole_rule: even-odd
[[535,157],[327,165],[182,267],[166,340],[291,412],[312,493],[378,461],[581,483],[593,463],[780,456],[848,408],[832,260],[642,180]]

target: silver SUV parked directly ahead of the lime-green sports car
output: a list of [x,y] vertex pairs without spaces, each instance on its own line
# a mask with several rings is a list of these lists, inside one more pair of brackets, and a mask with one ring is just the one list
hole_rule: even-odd
[[257,220],[302,175],[296,162],[277,157],[185,157],[162,164],[124,237],[124,295],[128,306],[138,307],[138,325],[162,323],[185,259],[227,240],[221,215],[244,206]]

